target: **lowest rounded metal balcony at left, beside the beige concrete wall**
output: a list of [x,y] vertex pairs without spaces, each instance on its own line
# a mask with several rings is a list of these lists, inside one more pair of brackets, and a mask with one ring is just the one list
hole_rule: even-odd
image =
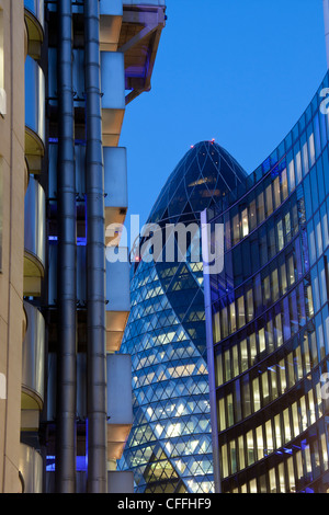
[[20,465],[23,493],[43,493],[43,458],[30,445],[20,444]]

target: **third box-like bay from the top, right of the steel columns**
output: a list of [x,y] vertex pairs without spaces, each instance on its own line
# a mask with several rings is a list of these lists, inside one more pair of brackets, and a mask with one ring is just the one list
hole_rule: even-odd
[[[104,147],[105,227],[123,226],[128,208],[127,156],[125,148]],[[113,232],[113,231],[112,231]],[[105,243],[115,238],[105,232]]]

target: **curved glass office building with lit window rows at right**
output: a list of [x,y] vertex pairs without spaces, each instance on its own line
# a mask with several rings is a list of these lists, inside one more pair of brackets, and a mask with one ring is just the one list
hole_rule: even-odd
[[328,84],[208,214],[225,227],[209,275],[223,492],[329,491]]

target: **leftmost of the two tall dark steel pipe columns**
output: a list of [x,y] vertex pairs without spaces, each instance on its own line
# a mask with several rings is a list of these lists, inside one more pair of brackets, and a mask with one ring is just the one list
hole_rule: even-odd
[[72,7],[58,0],[58,336],[56,490],[76,491],[77,396],[77,215],[75,178],[75,115],[72,88]]

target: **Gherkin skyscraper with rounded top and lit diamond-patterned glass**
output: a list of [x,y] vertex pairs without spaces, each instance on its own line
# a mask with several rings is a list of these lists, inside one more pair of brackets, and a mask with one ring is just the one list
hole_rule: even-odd
[[[148,224],[200,224],[247,174],[215,141],[193,146]],[[120,462],[138,493],[214,491],[202,262],[133,262],[122,352],[132,355],[134,425]]]

